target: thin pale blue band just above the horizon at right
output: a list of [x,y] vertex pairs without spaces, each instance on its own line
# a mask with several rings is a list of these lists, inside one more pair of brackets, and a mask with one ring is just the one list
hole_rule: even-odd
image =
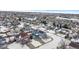
[[79,14],[79,10],[32,10],[32,12]]

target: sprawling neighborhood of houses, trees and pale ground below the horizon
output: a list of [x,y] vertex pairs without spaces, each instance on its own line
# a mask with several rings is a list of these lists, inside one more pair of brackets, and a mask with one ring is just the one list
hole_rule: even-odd
[[0,11],[0,49],[78,49],[79,14]]

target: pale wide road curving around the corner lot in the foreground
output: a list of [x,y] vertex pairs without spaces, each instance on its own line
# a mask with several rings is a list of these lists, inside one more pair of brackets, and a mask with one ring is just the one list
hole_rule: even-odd
[[[49,34],[49,33],[48,33]],[[55,35],[55,34],[49,34],[50,36],[52,36],[53,41],[39,47],[40,49],[56,49],[56,47],[58,46],[59,42],[62,40],[61,37]]]

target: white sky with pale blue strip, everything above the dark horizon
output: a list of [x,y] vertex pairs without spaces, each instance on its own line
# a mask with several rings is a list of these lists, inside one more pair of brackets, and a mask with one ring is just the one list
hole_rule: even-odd
[[79,14],[79,0],[0,0],[0,11]]

